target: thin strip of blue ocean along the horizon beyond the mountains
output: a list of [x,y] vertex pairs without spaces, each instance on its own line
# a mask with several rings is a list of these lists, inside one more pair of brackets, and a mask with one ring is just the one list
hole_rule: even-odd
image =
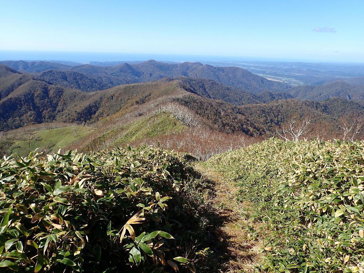
[[209,55],[0,50],[0,61],[59,60],[59,61],[71,61],[78,63],[88,63],[88,62],[114,62],[114,61],[146,61],[150,59],[154,59],[157,61],[168,61],[168,62],[289,61],[277,58],[209,56]]

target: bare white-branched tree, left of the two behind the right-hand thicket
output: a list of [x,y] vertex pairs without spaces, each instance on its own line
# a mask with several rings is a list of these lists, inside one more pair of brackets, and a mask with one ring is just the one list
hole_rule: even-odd
[[302,135],[308,132],[308,125],[311,124],[311,121],[310,118],[304,120],[290,119],[288,123],[279,129],[277,128],[275,132],[285,141],[297,142]]

